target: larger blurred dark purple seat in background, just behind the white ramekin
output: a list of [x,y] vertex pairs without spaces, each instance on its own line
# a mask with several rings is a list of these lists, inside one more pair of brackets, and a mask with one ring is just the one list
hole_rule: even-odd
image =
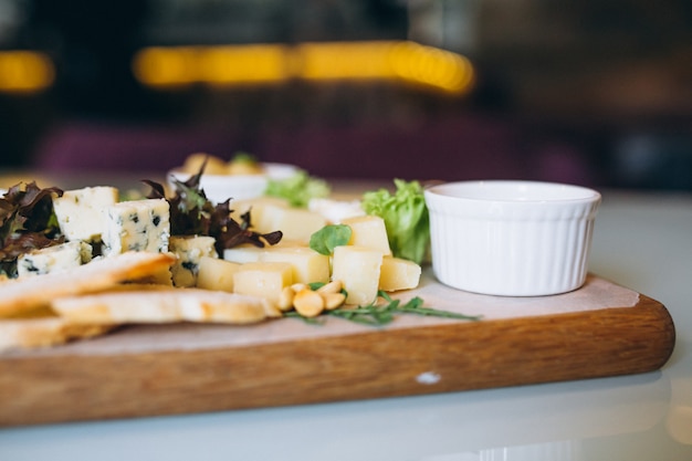
[[317,176],[364,179],[524,177],[525,146],[516,130],[476,119],[443,119],[407,127],[273,130],[259,151]]

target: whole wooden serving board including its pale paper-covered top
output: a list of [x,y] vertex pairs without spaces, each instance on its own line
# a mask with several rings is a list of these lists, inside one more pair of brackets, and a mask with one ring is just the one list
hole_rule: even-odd
[[0,354],[0,426],[134,418],[422,395],[638,374],[672,354],[665,307],[590,275],[544,297],[483,296],[426,272],[426,306],[479,322],[402,315],[252,326],[133,325],[65,346]]

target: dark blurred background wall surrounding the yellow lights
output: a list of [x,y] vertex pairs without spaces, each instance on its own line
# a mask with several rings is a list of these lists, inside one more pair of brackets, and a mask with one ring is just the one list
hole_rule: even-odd
[[[20,3],[29,6],[23,27],[4,46],[49,52],[57,81],[46,94],[0,96],[9,114],[0,128],[6,165],[28,160],[44,130],[70,118],[228,127],[251,148],[276,127],[406,129],[480,115],[511,119],[546,146],[566,143],[605,184],[692,188],[692,174],[674,180],[665,174],[685,171],[692,157],[689,0]],[[156,92],[140,87],[129,67],[148,44],[407,38],[471,57],[474,92],[448,97],[397,85],[304,82]],[[553,158],[565,149],[548,150]]]

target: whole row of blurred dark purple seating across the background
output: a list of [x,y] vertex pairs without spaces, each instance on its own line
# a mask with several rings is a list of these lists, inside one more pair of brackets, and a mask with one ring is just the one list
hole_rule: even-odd
[[192,153],[230,158],[238,150],[334,179],[589,181],[579,151],[536,144],[514,124],[479,116],[410,126],[269,126],[252,138],[226,127],[67,124],[43,139],[34,167],[161,174]]

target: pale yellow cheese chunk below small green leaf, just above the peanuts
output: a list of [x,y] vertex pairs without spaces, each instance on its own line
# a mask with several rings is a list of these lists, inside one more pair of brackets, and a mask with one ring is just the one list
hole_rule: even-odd
[[261,253],[261,261],[290,263],[294,283],[329,281],[329,256],[319,254],[310,247],[271,247]]

